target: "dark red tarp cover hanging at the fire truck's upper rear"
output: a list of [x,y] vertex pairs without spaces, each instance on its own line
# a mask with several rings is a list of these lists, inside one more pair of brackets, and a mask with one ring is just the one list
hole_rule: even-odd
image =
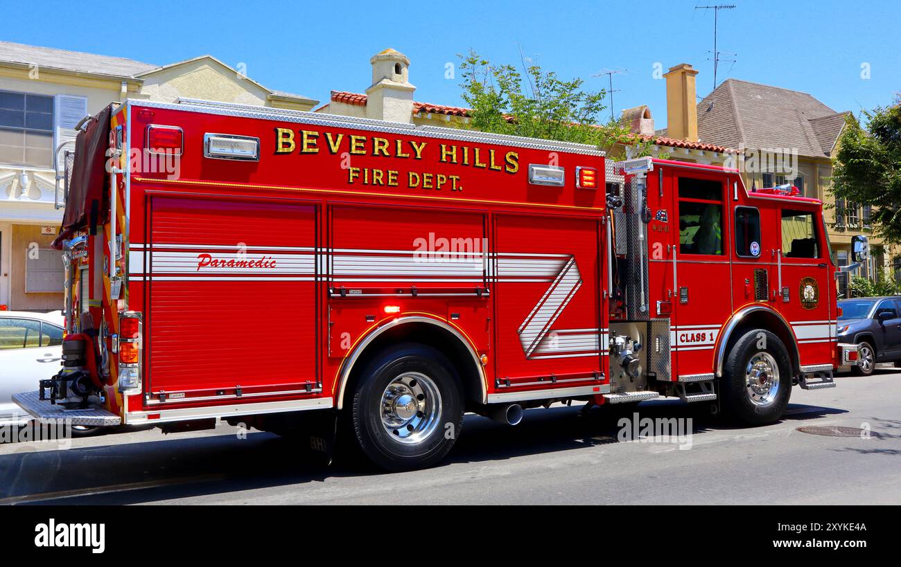
[[103,219],[109,209],[106,188],[106,149],[109,148],[110,116],[112,106],[107,106],[78,132],[75,140],[75,161],[72,178],[68,184],[66,211],[62,217],[59,236],[53,247],[62,247],[62,241],[84,229],[91,221],[91,211],[96,210],[97,220]]

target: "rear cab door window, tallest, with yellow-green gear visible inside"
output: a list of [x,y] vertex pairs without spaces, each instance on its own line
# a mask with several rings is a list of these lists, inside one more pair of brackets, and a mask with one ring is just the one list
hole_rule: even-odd
[[723,184],[679,177],[678,242],[681,254],[723,254]]

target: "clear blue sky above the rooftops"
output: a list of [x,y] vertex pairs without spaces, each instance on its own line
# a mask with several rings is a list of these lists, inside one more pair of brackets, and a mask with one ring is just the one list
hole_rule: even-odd
[[[727,77],[813,94],[836,111],[891,103],[901,91],[901,2],[733,0],[720,13],[719,49]],[[168,64],[211,54],[269,88],[326,102],[329,91],[362,92],[369,57],[393,47],[412,61],[416,100],[461,104],[445,65],[467,49],[519,63],[519,49],[561,76],[606,86],[598,71],[622,67],[614,109],[648,104],[666,123],[666,94],[653,77],[687,62],[698,94],[713,87],[714,14],[669,2],[261,2],[142,3],[0,0],[0,39]],[[250,6],[245,8],[244,6]],[[378,7],[377,7],[378,6]],[[386,7],[381,7],[386,6]],[[870,78],[861,78],[869,64]],[[459,79],[459,73],[457,74]]]

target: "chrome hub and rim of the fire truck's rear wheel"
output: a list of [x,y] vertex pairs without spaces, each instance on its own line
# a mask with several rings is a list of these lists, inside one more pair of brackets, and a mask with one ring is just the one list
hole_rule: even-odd
[[382,393],[382,427],[401,443],[419,443],[432,435],[441,418],[441,394],[425,374],[398,375]]

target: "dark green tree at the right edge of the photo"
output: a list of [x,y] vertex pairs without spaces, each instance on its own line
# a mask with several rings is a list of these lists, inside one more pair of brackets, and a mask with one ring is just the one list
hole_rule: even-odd
[[873,206],[875,236],[901,242],[901,97],[894,106],[864,111],[866,128],[849,115],[839,139],[833,193]]

